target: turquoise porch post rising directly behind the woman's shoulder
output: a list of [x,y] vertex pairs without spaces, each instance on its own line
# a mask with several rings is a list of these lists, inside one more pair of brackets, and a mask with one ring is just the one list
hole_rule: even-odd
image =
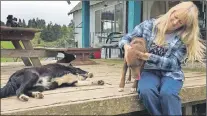
[[128,1],[128,32],[141,22],[141,1]]

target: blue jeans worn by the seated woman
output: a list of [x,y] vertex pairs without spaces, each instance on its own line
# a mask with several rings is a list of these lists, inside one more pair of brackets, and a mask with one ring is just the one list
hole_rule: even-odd
[[182,81],[162,76],[158,71],[143,71],[138,94],[151,115],[182,115],[179,97],[182,86]]

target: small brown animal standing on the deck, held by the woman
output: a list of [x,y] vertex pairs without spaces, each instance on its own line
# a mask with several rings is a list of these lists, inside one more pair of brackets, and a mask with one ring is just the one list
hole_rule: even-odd
[[137,51],[145,53],[147,51],[146,49],[146,43],[143,38],[134,38],[130,46],[132,47],[127,52],[127,58],[124,58],[124,66],[122,69],[122,76],[121,76],[121,82],[119,84],[119,91],[124,91],[125,86],[125,77],[127,69],[129,68],[129,78],[127,81],[131,81],[131,76],[135,79],[134,83],[132,85],[131,91],[135,92],[138,86],[138,80],[140,79],[140,73],[144,66],[144,60],[138,59],[138,56],[136,54]]

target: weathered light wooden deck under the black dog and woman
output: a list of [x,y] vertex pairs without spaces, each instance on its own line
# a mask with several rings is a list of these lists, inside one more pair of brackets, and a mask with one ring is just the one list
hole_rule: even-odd
[[[43,62],[42,64],[47,64]],[[23,63],[1,64],[1,86]],[[44,99],[30,98],[21,102],[17,98],[1,99],[1,114],[50,115],[116,115],[143,110],[136,93],[130,93],[132,83],[124,92],[118,92],[121,76],[120,64],[99,62],[97,65],[77,66],[94,73],[91,80],[104,80],[103,86],[60,88],[44,92]],[[206,73],[185,72],[186,80],[180,93],[183,105],[206,100]]]

